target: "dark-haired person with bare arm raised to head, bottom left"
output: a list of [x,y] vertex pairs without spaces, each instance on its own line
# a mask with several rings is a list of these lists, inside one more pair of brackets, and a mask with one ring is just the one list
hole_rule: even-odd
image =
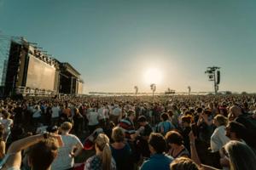
[[3,168],[3,170],[20,170],[21,150],[32,147],[28,156],[32,170],[49,170],[52,161],[57,156],[58,144],[55,139],[61,145],[60,138],[59,135],[43,133],[17,140],[9,146],[0,168]]

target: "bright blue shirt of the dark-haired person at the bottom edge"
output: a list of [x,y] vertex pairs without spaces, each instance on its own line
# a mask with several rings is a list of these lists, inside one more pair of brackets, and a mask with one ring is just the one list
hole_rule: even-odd
[[141,170],[170,170],[170,163],[173,158],[171,156],[166,156],[164,154],[154,154],[150,156],[148,161],[143,162]]

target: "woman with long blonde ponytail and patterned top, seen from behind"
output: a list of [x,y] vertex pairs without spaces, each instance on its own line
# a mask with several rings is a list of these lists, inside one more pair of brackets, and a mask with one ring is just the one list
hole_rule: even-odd
[[100,133],[95,140],[96,155],[91,156],[84,165],[84,170],[116,170],[116,164],[111,155],[109,139]]

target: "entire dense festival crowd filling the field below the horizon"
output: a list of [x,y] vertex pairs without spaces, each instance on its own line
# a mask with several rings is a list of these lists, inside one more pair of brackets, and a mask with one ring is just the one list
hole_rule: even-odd
[[0,169],[256,170],[255,95],[3,99],[0,113]]

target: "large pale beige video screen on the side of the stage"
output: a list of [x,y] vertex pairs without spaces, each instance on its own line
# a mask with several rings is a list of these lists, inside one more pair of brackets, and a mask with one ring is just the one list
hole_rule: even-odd
[[55,67],[29,54],[26,87],[54,90]]

